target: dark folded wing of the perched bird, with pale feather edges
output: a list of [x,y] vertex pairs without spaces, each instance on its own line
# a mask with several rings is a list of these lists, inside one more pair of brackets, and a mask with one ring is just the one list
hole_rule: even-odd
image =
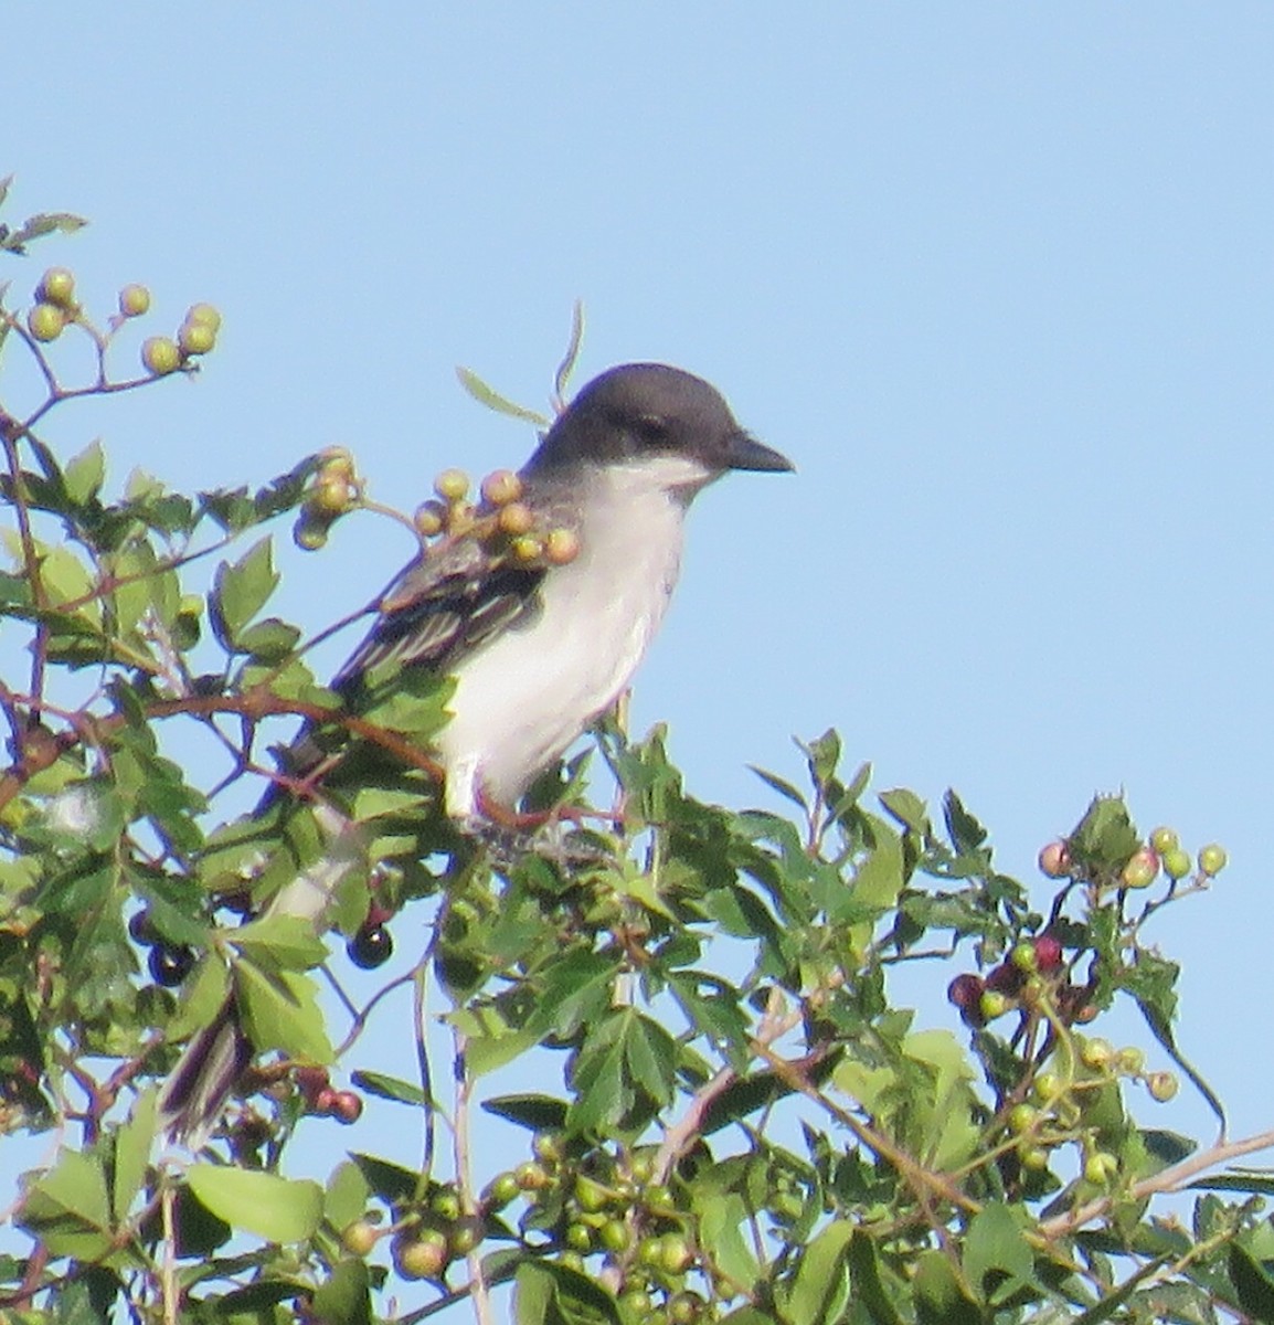
[[544,574],[542,566],[493,562],[471,538],[429,549],[381,595],[376,623],[332,689],[348,694],[373,669],[384,678],[417,666],[446,674],[466,653],[536,611]]

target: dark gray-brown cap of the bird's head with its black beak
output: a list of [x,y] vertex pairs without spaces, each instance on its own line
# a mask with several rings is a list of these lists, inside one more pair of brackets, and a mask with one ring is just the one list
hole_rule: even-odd
[[626,363],[593,378],[558,417],[528,472],[677,456],[703,469],[791,470],[735,421],[715,387],[662,363]]

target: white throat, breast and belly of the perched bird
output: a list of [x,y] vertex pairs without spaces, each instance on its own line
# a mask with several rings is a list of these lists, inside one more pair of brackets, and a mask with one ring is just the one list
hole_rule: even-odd
[[691,461],[662,457],[612,466],[597,481],[580,555],[548,571],[542,612],[457,669],[453,717],[438,738],[449,815],[477,814],[479,787],[514,804],[616,701],[677,583],[685,486],[706,477]]

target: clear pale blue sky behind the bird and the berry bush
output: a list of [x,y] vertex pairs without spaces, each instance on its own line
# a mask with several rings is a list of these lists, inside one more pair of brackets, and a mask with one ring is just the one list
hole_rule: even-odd
[[[1220,839],[1160,937],[1184,1044],[1270,1124],[1274,9],[69,0],[5,50],[11,219],[93,225],[0,276],[225,317],[197,382],[68,447],[189,488],[340,443],[411,505],[532,443],[453,366],[543,404],[583,298],[579,380],[681,364],[800,470],[702,498],[636,723],[732,803],[834,723],[1025,877],[1095,790]],[[289,607],[407,553],[348,521]]]

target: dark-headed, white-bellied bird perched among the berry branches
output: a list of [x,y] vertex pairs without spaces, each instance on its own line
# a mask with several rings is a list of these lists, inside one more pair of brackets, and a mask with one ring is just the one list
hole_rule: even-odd
[[[482,836],[629,686],[677,584],[693,500],[731,470],[793,468],[702,378],[662,363],[609,368],[518,473],[523,505],[569,531],[577,554],[522,566],[493,558],[475,535],[426,545],[379,596],[332,689],[355,702],[373,672],[449,677],[449,719],[432,738],[442,808],[461,832]],[[318,759],[302,737],[291,762]],[[359,863],[354,825],[330,804],[318,818],[323,859],[269,908],[315,926]],[[172,1140],[193,1146],[208,1134],[252,1059],[234,1011],[228,999],[196,1032],[160,1092]]]

